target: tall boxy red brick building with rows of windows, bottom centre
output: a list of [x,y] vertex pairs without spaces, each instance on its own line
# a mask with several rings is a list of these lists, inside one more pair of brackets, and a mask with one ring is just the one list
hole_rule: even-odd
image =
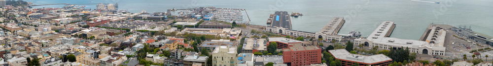
[[304,45],[304,43],[288,45],[282,49],[284,64],[287,66],[310,66],[322,63],[321,49],[316,45]]

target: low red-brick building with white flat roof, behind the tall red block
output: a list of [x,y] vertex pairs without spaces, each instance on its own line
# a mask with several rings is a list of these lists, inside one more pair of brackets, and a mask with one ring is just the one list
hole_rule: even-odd
[[284,38],[284,37],[272,37],[272,38],[269,38],[269,43],[267,43],[267,45],[269,45],[272,42],[276,42],[278,48],[287,48],[288,45],[290,45],[290,44],[291,45],[292,44],[299,44],[299,43],[302,43],[303,41],[293,40],[293,39]]

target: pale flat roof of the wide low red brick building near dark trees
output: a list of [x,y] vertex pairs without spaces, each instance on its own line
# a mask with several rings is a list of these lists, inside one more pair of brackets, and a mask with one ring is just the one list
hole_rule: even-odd
[[344,59],[358,63],[373,64],[373,63],[384,62],[384,61],[392,61],[392,59],[385,56],[384,54],[377,54],[371,56],[358,55],[358,54],[351,54],[346,49],[334,49],[334,50],[329,50],[329,52],[336,59]]

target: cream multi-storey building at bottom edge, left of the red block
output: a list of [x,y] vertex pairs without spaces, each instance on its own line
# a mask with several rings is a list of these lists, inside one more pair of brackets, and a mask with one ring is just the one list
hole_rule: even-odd
[[236,47],[217,46],[212,51],[212,66],[236,66]]

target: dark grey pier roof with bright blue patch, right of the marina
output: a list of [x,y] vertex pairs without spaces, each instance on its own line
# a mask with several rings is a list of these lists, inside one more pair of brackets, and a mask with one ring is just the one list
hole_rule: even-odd
[[276,11],[271,23],[271,26],[277,26],[287,29],[292,29],[291,18],[287,11]]

